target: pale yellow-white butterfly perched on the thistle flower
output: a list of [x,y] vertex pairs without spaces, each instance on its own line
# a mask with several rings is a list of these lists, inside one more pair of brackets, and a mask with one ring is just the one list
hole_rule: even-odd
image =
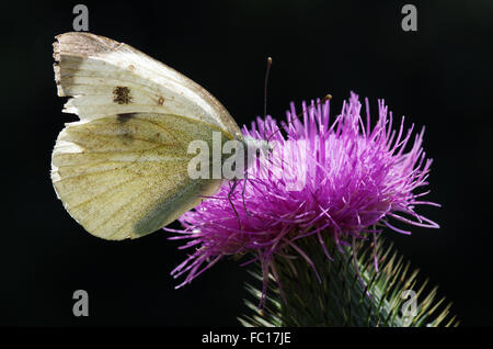
[[[51,181],[68,213],[90,234],[138,238],[216,193],[221,178],[191,178],[188,145],[213,134],[244,137],[222,104],[176,70],[129,45],[85,32],[54,43],[59,97],[71,97],[51,155]],[[248,166],[248,165],[246,165]]]

